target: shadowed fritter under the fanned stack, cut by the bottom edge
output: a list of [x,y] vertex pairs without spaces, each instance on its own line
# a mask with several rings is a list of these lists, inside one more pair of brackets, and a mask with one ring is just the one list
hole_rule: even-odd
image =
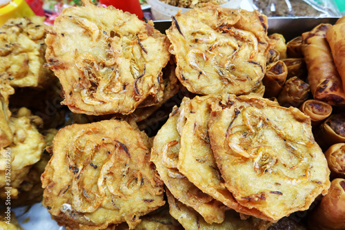
[[185,204],[179,202],[179,200],[175,199],[174,196],[170,193],[170,191],[167,190],[166,195],[168,197],[170,214],[172,215],[172,217],[178,220],[186,230],[264,230],[267,229],[270,226],[270,224],[272,224],[271,222],[268,222],[266,220],[260,220],[258,218],[253,217],[247,218],[246,220],[242,220],[240,218],[239,213],[236,213],[233,210],[226,211],[224,222],[221,222],[220,224],[208,224],[201,217],[201,215],[199,215],[199,213],[197,213],[193,209],[190,209],[190,207],[187,207]]

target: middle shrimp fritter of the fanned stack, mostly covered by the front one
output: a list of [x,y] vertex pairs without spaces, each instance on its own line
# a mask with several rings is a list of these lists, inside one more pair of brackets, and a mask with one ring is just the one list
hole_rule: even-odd
[[177,169],[201,191],[213,196],[230,209],[239,213],[269,219],[256,209],[248,209],[239,204],[226,189],[208,137],[208,117],[211,104],[221,101],[221,97],[208,95],[195,97],[184,106],[184,124],[181,133],[181,148]]

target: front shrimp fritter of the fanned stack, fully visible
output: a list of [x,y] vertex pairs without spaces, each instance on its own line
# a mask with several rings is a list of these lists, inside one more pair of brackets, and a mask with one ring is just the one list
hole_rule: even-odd
[[214,104],[208,135],[235,200],[279,220],[306,210],[330,186],[326,158],[311,120],[297,108],[262,97]]

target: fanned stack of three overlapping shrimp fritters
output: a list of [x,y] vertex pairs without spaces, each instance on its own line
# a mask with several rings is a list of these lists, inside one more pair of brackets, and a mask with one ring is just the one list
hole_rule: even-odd
[[171,194],[208,223],[219,221],[201,204],[221,202],[275,222],[308,209],[330,185],[310,118],[254,95],[184,99],[157,133],[151,154]]

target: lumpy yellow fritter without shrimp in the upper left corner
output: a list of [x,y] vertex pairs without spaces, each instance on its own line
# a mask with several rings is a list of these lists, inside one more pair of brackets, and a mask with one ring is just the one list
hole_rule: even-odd
[[11,79],[11,86],[44,88],[52,71],[46,62],[45,17],[25,17],[6,21],[0,28],[0,75]]

